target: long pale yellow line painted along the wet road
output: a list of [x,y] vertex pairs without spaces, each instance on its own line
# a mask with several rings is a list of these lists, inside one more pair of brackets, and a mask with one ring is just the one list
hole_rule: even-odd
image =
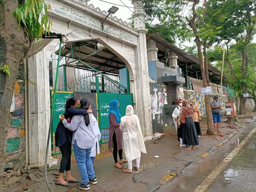
[[244,144],[251,138],[251,136],[256,132],[256,127],[245,137],[245,139],[233,149],[230,154],[208,175],[208,177],[201,183],[194,192],[204,192],[212,183],[212,181],[219,175],[219,173],[229,164],[229,162],[235,157],[235,155],[240,151]]

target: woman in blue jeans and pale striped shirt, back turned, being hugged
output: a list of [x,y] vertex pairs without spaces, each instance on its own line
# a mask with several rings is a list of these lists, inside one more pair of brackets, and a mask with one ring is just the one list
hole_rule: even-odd
[[[80,103],[81,109],[88,109],[86,99],[82,99]],[[66,128],[74,132],[72,145],[82,179],[82,183],[78,184],[78,188],[89,190],[89,183],[97,184],[93,163],[90,158],[91,148],[95,145],[96,139],[96,136],[93,134],[95,118],[85,114],[73,116],[71,123],[68,123],[63,116],[61,116],[61,120]]]

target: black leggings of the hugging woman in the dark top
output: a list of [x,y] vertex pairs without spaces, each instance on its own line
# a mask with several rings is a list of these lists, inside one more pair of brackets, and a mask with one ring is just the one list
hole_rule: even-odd
[[70,171],[71,168],[71,143],[69,142],[69,139],[66,140],[66,142],[59,146],[59,149],[61,150],[61,165],[59,167],[59,172],[64,173],[64,171]]

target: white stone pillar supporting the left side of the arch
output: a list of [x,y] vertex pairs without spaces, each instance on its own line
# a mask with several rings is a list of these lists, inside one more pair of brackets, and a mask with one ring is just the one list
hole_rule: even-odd
[[[26,151],[28,168],[44,166],[47,136],[50,124],[49,58],[45,47],[33,57],[26,59]],[[49,57],[49,58],[48,58]],[[51,144],[51,142],[50,142]],[[51,157],[49,166],[58,160]]]

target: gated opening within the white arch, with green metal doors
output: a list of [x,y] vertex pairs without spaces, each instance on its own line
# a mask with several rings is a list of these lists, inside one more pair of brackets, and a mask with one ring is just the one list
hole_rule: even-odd
[[[93,50],[94,45],[94,50]],[[90,46],[91,53],[86,54],[85,50],[82,50],[83,46]],[[63,48],[64,47],[64,48]],[[55,148],[55,139],[54,133],[56,127],[59,122],[59,114],[64,114],[65,109],[64,105],[68,98],[73,96],[78,97],[79,99],[86,98],[88,102],[92,104],[92,110],[94,116],[98,120],[98,125],[102,134],[102,139],[100,144],[108,143],[108,110],[109,110],[109,103],[111,100],[118,100],[120,103],[120,113],[122,116],[125,115],[125,110],[127,105],[134,105],[133,102],[133,94],[130,93],[130,79],[129,73],[126,66],[112,66],[104,62],[105,65],[108,65],[105,71],[100,71],[102,66],[100,63],[97,63],[99,66],[93,66],[91,63],[95,65],[96,62],[91,61],[92,57],[98,53],[101,53],[102,50],[99,50],[99,45],[97,45],[96,41],[90,40],[87,43],[66,43],[61,49],[61,56],[62,58],[65,57],[65,64],[60,66],[60,69],[63,69],[64,72],[64,84],[58,87],[58,91],[55,92],[55,106],[52,115],[52,155],[60,154],[59,151]],[[70,49],[66,50],[67,47]],[[74,52],[76,51],[76,53]],[[58,52],[57,50],[56,52]],[[71,52],[70,52],[71,51]],[[105,50],[106,52],[107,50]],[[82,53],[81,53],[82,52]],[[108,51],[107,51],[108,52]],[[108,52],[110,53],[110,52]],[[82,55],[83,54],[83,55]],[[95,56],[97,59],[102,56]],[[89,60],[88,60],[89,59]],[[71,61],[70,61],[71,60]],[[113,58],[111,59],[111,63],[113,63]],[[117,58],[116,61],[119,61]],[[97,69],[96,69],[96,68]],[[68,82],[68,73],[75,72],[75,69],[82,69],[86,71],[91,71],[90,74],[83,74],[76,78],[74,73],[74,79]],[[116,79],[110,78],[112,72],[119,72],[120,69],[126,70],[126,85],[124,86],[120,84],[120,82]],[[71,78],[72,79],[72,78]],[[76,81],[75,81],[76,80]],[[50,96],[52,96],[53,91],[50,92]],[[52,99],[51,99],[52,101]]]

